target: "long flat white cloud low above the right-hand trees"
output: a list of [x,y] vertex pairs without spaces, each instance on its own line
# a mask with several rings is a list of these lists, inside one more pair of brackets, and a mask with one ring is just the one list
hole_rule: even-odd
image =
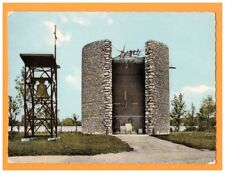
[[215,89],[207,85],[185,86],[181,92],[183,94],[203,94],[207,92],[215,92]]

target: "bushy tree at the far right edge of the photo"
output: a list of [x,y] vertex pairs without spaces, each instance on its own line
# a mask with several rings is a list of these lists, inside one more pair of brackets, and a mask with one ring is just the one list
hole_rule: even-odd
[[216,120],[216,104],[212,96],[207,96],[203,99],[198,113],[198,126],[200,131],[212,129],[215,127]]

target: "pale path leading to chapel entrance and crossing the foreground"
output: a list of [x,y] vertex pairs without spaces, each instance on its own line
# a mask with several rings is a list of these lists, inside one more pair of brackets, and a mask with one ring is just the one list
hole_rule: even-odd
[[215,151],[198,150],[147,135],[116,135],[134,151],[95,156],[9,157],[9,163],[209,163]]

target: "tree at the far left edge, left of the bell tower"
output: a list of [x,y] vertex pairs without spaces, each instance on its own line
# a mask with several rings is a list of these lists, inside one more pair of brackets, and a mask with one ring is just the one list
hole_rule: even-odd
[[10,132],[13,132],[13,127],[18,124],[17,116],[20,113],[20,107],[16,99],[9,96],[9,125],[11,127]]

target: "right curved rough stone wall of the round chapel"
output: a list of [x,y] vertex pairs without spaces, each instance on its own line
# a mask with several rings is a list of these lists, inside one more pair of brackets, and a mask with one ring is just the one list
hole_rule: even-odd
[[145,129],[169,134],[169,50],[156,41],[145,44]]

